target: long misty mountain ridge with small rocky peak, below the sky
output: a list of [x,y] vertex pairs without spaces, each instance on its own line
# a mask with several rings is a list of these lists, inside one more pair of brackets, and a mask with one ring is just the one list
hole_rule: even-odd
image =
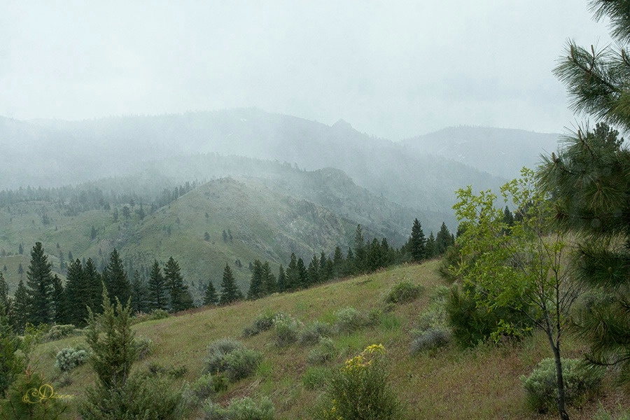
[[0,139],[10,147],[21,144],[33,150],[41,139],[50,145],[47,153],[13,153],[19,162],[11,170],[20,178],[5,176],[8,169],[0,168],[0,188],[96,180],[129,174],[141,162],[193,153],[286,161],[311,170],[335,167],[372,193],[423,211],[449,212],[456,188],[468,183],[491,188],[501,181],[460,163],[361,134],[343,121],[329,127],[257,109],[79,122],[6,120],[0,125]]

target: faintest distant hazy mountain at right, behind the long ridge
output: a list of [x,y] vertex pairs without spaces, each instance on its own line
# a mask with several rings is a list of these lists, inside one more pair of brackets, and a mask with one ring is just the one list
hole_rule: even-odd
[[443,156],[480,171],[512,179],[535,168],[541,153],[556,150],[559,134],[491,127],[449,127],[402,141],[421,153]]

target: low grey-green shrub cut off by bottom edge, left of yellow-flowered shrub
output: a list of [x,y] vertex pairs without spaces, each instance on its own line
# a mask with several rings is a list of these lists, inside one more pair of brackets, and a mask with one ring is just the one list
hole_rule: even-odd
[[273,420],[275,414],[274,405],[267,397],[235,399],[226,408],[208,401],[203,410],[205,420]]

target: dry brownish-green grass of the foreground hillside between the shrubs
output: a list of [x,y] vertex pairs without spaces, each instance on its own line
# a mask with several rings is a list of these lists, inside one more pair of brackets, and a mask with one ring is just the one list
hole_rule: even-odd
[[[386,347],[391,384],[407,407],[405,419],[554,418],[535,414],[526,407],[519,381],[519,375],[528,374],[540,359],[549,357],[542,335],[498,348],[480,346],[461,351],[451,345],[435,353],[409,356],[409,330],[426,307],[431,290],[442,284],[435,274],[436,267],[437,261],[396,267],[297,293],[139,323],[134,326],[137,335],[153,339],[157,346],[155,353],[138,362],[134,369],[146,370],[150,365],[183,367],[186,374],[181,380],[194,381],[200,377],[210,342],[239,337],[246,346],[262,351],[264,361],[253,377],[231,384],[216,400],[226,403],[243,395],[267,395],[274,402],[277,419],[308,419],[323,389],[304,386],[304,376],[318,369],[338,369],[346,358],[360,353],[365,346],[381,343]],[[372,327],[350,335],[335,335],[335,357],[324,368],[307,361],[311,346],[291,344],[279,348],[273,343],[272,332],[241,337],[243,329],[264,311],[283,311],[303,323],[330,322],[335,311],[344,307],[378,311],[383,308],[382,298],[387,290],[403,280],[423,285],[423,295],[379,314],[377,324]],[[59,349],[81,342],[82,337],[72,337],[42,344],[36,351],[37,367],[50,378],[58,393],[80,397],[85,386],[93,383],[87,366],[78,367],[63,378],[53,366]],[[564,345],[568,357],[579,356],[582,351],[570,338]],[[590,419],[600,403],[614,410],[618,405],[627,407],[630,400],[627,395],[605,387],[596,398],[570,409],[569,414],[572,419]],[[67,418],[73,418],[73,414],[69,413]]]

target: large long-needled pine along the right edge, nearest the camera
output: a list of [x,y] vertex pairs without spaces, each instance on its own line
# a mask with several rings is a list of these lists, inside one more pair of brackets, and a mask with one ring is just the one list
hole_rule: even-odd
[[[622,0],[596,0],[598,20],[610,21],[614,47],[582,48],[569,41],[554,69],[566,84],[571,108],[605,124],[569,134],[558,155],[544,158],[542,186],[556,204],[556,220],[580,239],[577,276],[608,296],[576,321],[590,344],[589,360],[617,365],[630,382],[630,151],[610,125],[630,130],[630,9]],[[624,244],[623,246],[620,244]]]

